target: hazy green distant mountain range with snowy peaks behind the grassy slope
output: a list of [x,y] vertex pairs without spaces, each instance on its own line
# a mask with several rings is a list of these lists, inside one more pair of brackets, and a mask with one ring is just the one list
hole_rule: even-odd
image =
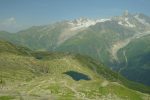
[[33,26],[0,39],[32,50],[90,56],[135,82],[150,86],[150,17],[127,11],[110,19],[79,18]]

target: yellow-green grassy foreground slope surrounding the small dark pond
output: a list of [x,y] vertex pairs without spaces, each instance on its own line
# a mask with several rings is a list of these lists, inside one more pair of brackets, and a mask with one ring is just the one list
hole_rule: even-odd
[[[91,58],[42,52],[31,56],[23,52],[27,49],[18,50],[19,47],[8,42],[0,43],[1,100],[142,100],[148,97],[115,82],[116,74]],[[94,67],[99,68],[97,72]],[[91,80],[75,81],[63,74],[67,71],[88,75]]]

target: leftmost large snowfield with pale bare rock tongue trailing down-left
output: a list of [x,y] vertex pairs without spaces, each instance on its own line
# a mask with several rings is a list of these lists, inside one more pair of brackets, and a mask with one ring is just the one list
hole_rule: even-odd
[[111,21],[111,19],[97,19],[92,20],[88,18],[79,18],[72,21],[68,21],[69,28],[66,28],[59,36],[57,45],[59,46],[66,40],[77,35],[80,31],[95,25],[96,23]]

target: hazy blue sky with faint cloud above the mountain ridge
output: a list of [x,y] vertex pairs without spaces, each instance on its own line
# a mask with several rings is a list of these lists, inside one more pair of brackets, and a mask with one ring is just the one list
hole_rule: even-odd
[[150,0],[0,0],[0,30],[13,32],[78,17],[111,17],[125,10],[150,16]]

